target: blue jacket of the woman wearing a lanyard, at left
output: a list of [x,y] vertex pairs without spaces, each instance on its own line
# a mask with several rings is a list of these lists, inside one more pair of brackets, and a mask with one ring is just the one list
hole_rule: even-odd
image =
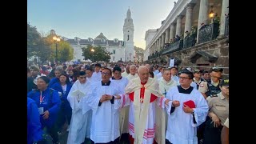
[[[50,88],[42,91],[42,103],[40,103],[40,90],[32,90],[27,94],[27,97],[32,98],[38,105],[38,108],[43,107],[43,111],[48,110],[49,118],[43,119],[43,114],[40,115],[42,129],[47,126],[51,127],[57,119],[58,110],[60,110],[61,99],[58,96],[58,91],[53,90],[50,96]],[[50,98],[51,97],[51,98]]]

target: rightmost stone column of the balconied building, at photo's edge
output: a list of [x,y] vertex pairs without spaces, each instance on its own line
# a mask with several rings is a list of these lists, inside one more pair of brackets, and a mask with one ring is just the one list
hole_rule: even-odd
[[229,14],[229,0],[222,0],[222,15],[221,15],[221,22],[220,22],[220,31],[219,35],[223,36],[225,32],[225,22],[226,22],[226,16],[225,14]]

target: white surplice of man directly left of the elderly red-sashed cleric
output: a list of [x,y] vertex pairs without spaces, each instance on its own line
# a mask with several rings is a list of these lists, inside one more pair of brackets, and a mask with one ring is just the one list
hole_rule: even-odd
[[92,84],[92,94],[90,94],[87,103],[93,110],[90,139],[95,143],[114,141],[120,136],[120,100],[115,99],[114,104],[111,104],[109,100],[98,106],[103,94],[118,95],[122,93],[115,82],[110,82],[110,86],[102,86],[102,81]]

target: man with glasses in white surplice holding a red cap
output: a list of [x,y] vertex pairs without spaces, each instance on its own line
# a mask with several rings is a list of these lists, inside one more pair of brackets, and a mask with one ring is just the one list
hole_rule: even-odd
[[193,73],[181,70],[178,76],[180,86],[170,88],[166,94],[170,99],[166,144],[197,144],[197,126],[206,121],[209,107],[202,94],[190,86]]

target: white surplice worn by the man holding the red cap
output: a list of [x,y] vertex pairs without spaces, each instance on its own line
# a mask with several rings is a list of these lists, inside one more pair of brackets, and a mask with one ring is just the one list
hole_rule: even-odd
[[[168,114],[168,124],[166,130],[166,139],[173,144],[197,144],[197,126],[206,121],[209,107],[202,94],[193,89],[190,94],[178,92],[178,86],[170,88],[166,94],[166,98],[170,99],[169,106],[166,108]],[[180,102],[180,106],[175,107],[175,110],[170,114],[172,109],[171,103],[174,100]],[[183,102],[192,100],[196,108],[194,108],[194,117],[197,122],[193,122],[193,114],[187,114],[183,111]]]

